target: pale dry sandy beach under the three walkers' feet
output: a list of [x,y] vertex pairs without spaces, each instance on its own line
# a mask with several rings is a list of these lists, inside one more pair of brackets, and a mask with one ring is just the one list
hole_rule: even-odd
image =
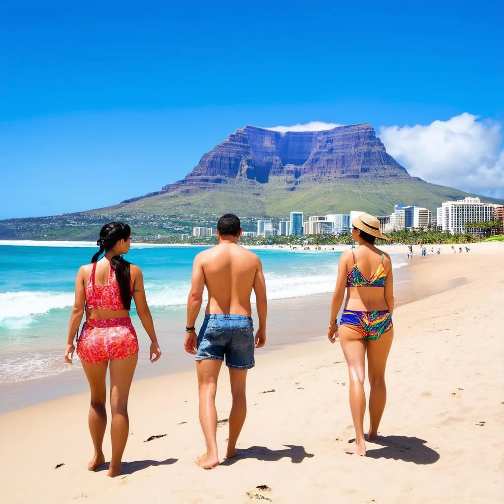
[[[407,267],[412,280],[396,288],[381,437],[367,444],[366,457],[352,454],[346,364],[340,346],[325,337],[331,295],[319,294],[270,306],[270,338],[288,331],[304,343],[258,352],[238,458],[213,471],[195,465],[204,451],[196,374],[172,373],[134,382],[125,474],[115,479],[106,476],[107,465],[86,470],[87,393],[1,415],[2,500],[500,501],[504,244],[470,246],[453,254],[443,245],[440,255],[426,258],[416,247]],[[384,247],[391,248],[406,255],[406,246]],[[220,380],[222,460],[231,402],[225,368]],[[106,457],[109,445],[105,437]]]

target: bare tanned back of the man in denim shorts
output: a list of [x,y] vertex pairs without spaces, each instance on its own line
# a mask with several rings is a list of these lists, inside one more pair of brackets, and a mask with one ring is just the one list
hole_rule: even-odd
[[221,242],[200,253],[197,261],[208,290],[205,314],[233,313],[250,317],[250,294],[261,271],[257,255],[237,243]]

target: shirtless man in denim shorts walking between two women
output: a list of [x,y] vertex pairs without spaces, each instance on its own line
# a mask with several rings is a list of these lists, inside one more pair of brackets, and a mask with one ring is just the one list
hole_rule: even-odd
[[[217,246],[198,254],[193,263],[191,292],[187,299],[187,327],[184,349],[196,355],[200,394],[200,422],[207,452],[197,464],[213,469],[217,455],[217,377],[226,357],[233,404],[229,414],[229,438],[226,458],[235,457],[236,441],[245,421],[245,380],[247,369],[254,367],[254,349],[266,342],[266,284],[263,267],[256,254],[237,244],[241,236],[240,220],[225,214],[217,223]],[[208,290],[205,321],[196,335],[194,327]],[[259,329],[254,337],[250,294],[254,289]]]

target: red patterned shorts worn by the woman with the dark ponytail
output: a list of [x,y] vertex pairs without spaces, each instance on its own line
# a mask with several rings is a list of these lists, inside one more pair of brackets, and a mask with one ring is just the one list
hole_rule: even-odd
[[77,340],[77,355],[90,364],[125,359],[137,352],[137,333],[130,317],[87,319]]

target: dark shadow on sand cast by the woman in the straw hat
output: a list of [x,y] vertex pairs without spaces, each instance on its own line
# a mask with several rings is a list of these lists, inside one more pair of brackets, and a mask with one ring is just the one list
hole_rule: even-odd
[[[353,443],[354,440],[350,439],[349,443]],[[404,462],[413,462],[414,464],[434,464],[439,460],[439,454],[431,448],[426,447],[425,443],[427,442],[418,437],[378,436],[375,441],[369,443],[383,447],[373,450],[371,445],[368,445],[366,457],[370,459],[403,460]]]

